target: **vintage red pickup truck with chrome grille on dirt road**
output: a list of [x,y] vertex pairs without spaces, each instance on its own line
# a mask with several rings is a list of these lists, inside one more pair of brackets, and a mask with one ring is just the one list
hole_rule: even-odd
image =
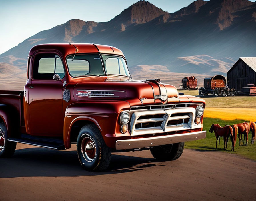
[[[141,72],[144,73],[144,72]],[[160,79],[133,80],[111,46],[34,46],[24,91],[0,90],[0,157],[16,143],[57,150],[77,144],[82,167],[105,170],[111,152],[149,150],[175,160],[184,142],[205,138],[205,101]]]

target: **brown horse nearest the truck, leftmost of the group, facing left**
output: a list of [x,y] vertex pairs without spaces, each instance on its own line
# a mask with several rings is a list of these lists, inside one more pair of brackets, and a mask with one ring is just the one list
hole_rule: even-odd
[[[213,131],[216,136],[216,149],[217,149],[217,142],[218,142],[219,137],[223,137],[225,150],[227,149],[227,140],[228,140],[229,136],[232,140],[232,145],[233,145],[233,141],[234,141],[233,129],[231,126],[221,127],[219,124],[212,124],[209,132],[212,133]],[[233,146],[232,146],[232,148],[233,148]]]

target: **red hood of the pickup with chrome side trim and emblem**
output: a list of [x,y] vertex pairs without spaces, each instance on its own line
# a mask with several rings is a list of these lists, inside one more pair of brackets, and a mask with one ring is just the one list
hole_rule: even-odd
[[179,96],[176,87],[163,84],[160,79],[102,79],[77,83],[73,96],[79,101],[126,100],[131,106],[189,102],[188,97]]

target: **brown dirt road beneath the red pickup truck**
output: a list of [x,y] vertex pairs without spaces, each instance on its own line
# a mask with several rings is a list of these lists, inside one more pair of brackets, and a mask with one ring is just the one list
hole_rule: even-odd
[[185,149],[176,161],[150,151],[114,153],[108,171],[86,172],[75,146],[55,151],[17,144],[0,159],[0,200],[255,200],[256,163]]

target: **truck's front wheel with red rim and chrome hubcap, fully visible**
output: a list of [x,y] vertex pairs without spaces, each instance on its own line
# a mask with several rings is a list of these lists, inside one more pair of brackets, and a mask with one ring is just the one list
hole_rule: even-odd
[[111,160],[109,148],[94,124],[81,128],[77,137],[77,155],[81,166],[87,171],[106,170]]

